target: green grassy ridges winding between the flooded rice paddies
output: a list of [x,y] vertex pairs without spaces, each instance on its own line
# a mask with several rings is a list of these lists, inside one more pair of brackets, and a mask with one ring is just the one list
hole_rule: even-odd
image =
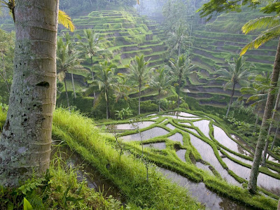
[[[165,112],[165,113],[167,113],[167,112]],[[188,122],[191,124],[191,126],[181,125],[181,124],[176,123],[176,121],[174,121],[173,118],[164,116],[163,114],[165,114],[165,113],[161,113],[161,115],[159,116],[160,118],[155,119],[155,120],[152,120],[151,118],[157,117],[157,115],[150,116],[150,117],[142,116],[142,118],[141,118],[141,120],[144,120],[144,121],[155,122],[153,125],[150,125],[148,127],[141,129],[141,132],[150,130],[153,127],[161,127],[162,129],[169,132],[169,134],[166,134],[164,136],[155,137],[153,139],[148,139],[148,140],[143,141],[144,144],[165,142],[166,146],[167,146],[162,151],[158,151],[153,148],[152,149],[144,148],[144,155],[146,155],[146,157],[148,157],[149,160],[151,160],[152,162],[155,162],[155,164],[160,165],[161,167],[166,167],[167,169],[171,169],[172,171],[177,172],[177,173],[181,174],[182,176],[186,176],[186,177],[188,177],[188,179],[191,179],[193,181],[203,181],[205,183],[205,185],[207,186],[207,188],[213,190],[214,192],[217,192],[219,195],[223,195],[225,197],[230,197],[241,203],[250,205],[251,207],[256,207],[256,208],[260,208],[260,209],[262,209],[262,208],[263,209],[270,209],[270,208],[274,209],[276,207],[275,200],[269,200],[267,197],[266,198],[262,197],[262,195],[256,195],[256,197],[252,196],[249,193],[246,193],[245,189],[237,187],[237,186],[231,186],[228,183],[224,182],[223,179],[219,178],[221,176],[219,176],[218,174],[216,174],[216,176],[211,176],[208,172],[205,172],[202,169],[197,169],[195,167],[195,165],[192,164],[192,160],[190,160],[190,153],[193,155],[193,157],[195,157],[195,159],[197,161],[200,161],[201,157],[200,157],[200,154],[191,145],[190,140],[189,140],[190,137],[188,136],[188,133],[193,134],[195,137],[200,138],[202,141],[209,144],[214,149],[216,158],[218,158],[219,162],[221,162],[221,165],[225,169],[228,168],[225,165],[225,163],[223,162],[222,158],[218,155],[218,150],[221,149],[221,145],[219,145],[218,142],[212,136],[213,135],[212,124],[222,127],[223,130],[228,129],[228,128],[223,127],[220,124],[221,122],[223,122],[223,120],[221,120],[220,118],[214,117],[214,116],[206,115],[205,113],[202,113],[202,112],[188,111],[188,113],[192,113],[192,114],[195,114],[196,116],[200,116],[200,118],[201,118],[200,120],[209,120],[210,118],[214,118],[214,120],[216,120],[217,123],[213,123],[213,121],[211,121],[212,123],[209,124],[209,129],[210,129],[209,134],[210,134],[211,140],[212,140],[212,141],[210,141],[209,139],[207,139],[204,136],[204,134],[202,132],[200,132],[200,130],[197,130],[197,127],[193,127],[192,122],[195,122],[197,120],[193,120],[193,121],[191,119],[190,120],[180,120],[181,122]],[[165,119],[167,119],[167,120],[165,120]],[[164,120],[165,120],[165,122],[162,123]],[[116,124],[123,124],[123,123],[130,123],[130,121],[129,120],[109,121],[106,123],[102,123],[100,125],[111,125],[111,124],[116,125]],[[170,130],[168,127],[166,127],[167,124],[173,125],[175,127],[175,129]],[[188,127],[195,129],[199,134],[195,134],[194,132],[186,130],[185,128],[188,128]],[[183,132],[183,131],[187,131],[187,133]],[[235,134],[235,132],[233,132],[231,130],[229,130],[229,132]],[[134,131],[133,130],[125,131],[124,133],[119,134],[119,137],[121,138],[125,135],[135,134],[135,133],[137,133],[137,131],[135,131],[135,130]],[[178,144],[174,141],[170,141],[168,139],[168,137],[170,137],[176,133],[180,133],[183,135],[183,145]],[[232,139],[228,132],[226,132],[226,134],[228,135],[228,137],[230,139]],[[232,139],[232,141],[235,141],[235,139]],[[124,144],[127,145],[127,149],[130,150],[130,153],[135,153],[137,155],[141,155],[141,153],[142,153],[141,152],[141,141],[124,142]],[[238,142],[237,142],[237,144],[238,144]],[[179,146],[179,148],[181,148],[181,149],[186,149],[187,153],[186,153],[185,158],[186,158],[187,164],[182,165],[183,162],[181,162],[181,160],[179,160],[178,158],[174,158],[174,146],[175,145],[177,147]],[[244,158],[243,155],[239,154],[239,156],[241,158]],[[246,158],[250,159],[248,157],[246,157]],[[238,163],[238,160],[235,160],[235,162]],[[269,174],[269,176],[274,176],[276,179],[279,179],[279,176],[277,176],[276,174],[272,174],[272,172],[269,173],[267,171],[268,170],[265,170],[265,169],[262,170],[263,173]],[[241,183],[246,183],[246,180],[240,179],[239,176],[237,176],[234,172],[229,171],[229,174],[231,176],[233,176],[237,181],[239,181]],[[275,199],[278,199],[278,197],[276,195],[272,195],[271,193],[267,192],[266,190],[262,190],[260,188],[259,188],[259,190],[261,190],[262,193],[265,193],[269,196],[274,197]],[[263,200],[263,199],[265,199],[265,200]],[[262,202],[265,202],[265,204],[262,204],[262,202],[260,202],[261,200],[262,200]],[[270,205],[272,205],[272,206],[270,206]]]

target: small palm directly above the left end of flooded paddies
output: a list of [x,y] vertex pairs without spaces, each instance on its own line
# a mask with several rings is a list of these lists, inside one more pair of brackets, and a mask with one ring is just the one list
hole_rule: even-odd
[[112,87],[115,86],[116,83],[116,76],[114,76],[115,69],[116,65],[107,61],[94,65],[94,72],[99,90],[104,93],[106,100],[106,119],[110,118],[109,90],[112,90]]

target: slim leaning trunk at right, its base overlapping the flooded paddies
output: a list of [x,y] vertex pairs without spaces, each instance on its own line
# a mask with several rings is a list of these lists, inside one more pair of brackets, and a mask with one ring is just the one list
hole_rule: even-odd
[[262,125],[260,127],[260,135],[258,137],[257,147],[255,148],[255,155],[253,159],[253,165],[251,168],[250,179],[248,181],[248,190],[251,193],[255,193],[257,187],[257,178],[258,178],[258,167],[260,167],[260,160],[262,156],[262,149],[265,144],[265,136],[267,133],[268,122],[267,120],[272,116],[272,108],[274,102],[274,94],[272,91],[277,85],[278,78],[279,78],[279,71],[280,71],[280,39],[276,50],[276,56],[274,61],[274,67],[272,71],[272,80],[271,80],[271,87],[267,94],[267,103],[265,104],[265,113],[262,118]]

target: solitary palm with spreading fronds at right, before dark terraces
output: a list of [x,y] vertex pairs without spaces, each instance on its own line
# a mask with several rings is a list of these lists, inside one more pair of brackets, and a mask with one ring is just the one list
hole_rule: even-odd
[[228,104],[228,111],[225,114],[225,117],[228,117],[228,113],[230,112],[230,105],[232,104],[232,99],[235,94],[235,85],[248,85],[248,76],[252,76],[252,73],[249,69],[244,68],[246,59],[244,57],[239,57],[237,59],[234,58],[234,63],[229,64],[228,69],[219,69],[217,71],[218,78],[223,78],[227,82],[223,85],[224,90],[232,85],[232,94],[230,96],[230,104]]

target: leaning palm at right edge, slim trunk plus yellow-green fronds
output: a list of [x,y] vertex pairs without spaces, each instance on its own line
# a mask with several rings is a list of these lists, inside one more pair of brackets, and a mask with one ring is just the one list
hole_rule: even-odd
[[[253,31],[255,29],[266,29],[265,31],[262,31],[255,40],[251,41],[251,43],[248,43],[242,50],[241,55],[243,55],[246,50],[251,48],[258,48],[263,43],[266,43],[267,41],[271,40],[272,38],[279,37],[280,35],[280,15],[279,11],[276,10],[277,7],[277,1],[268,1],[266,2],[267,5],[261,9],[263,13],[272,13],[276,11],[276,15],[270,15],[265,17],[256,18],[254,20],[250,20],[249,22],[242,27],[242,31],[245,34],[248,34],[248,32]],[[276,88],[276,85],[278,83],[279,79],[279,73],[280,73],[280,38],[276,50],[275,60],[274,60],[274,67],[272,71],[272,78],[270,83],[269,92],[267,94],[267,103],[265,105],[265,113],[262,117],[262,125],[260,127],[260,134],[258,137],[258,143],[255,148],[255,155],[253,159],[253,165],[251,168],[251,174],[250,179],[248,182],[248,190],[251,193],[255,193],[256,186],[257,186],[257,179],[258,179],[258,168],[260,167],[260,161],[262,156],[262,150],[265,146],[265,139],[266,139],[266,133],[267,129],[269,127],[268,119],[272,116],[272,109],[274,104],[274,89]]]

